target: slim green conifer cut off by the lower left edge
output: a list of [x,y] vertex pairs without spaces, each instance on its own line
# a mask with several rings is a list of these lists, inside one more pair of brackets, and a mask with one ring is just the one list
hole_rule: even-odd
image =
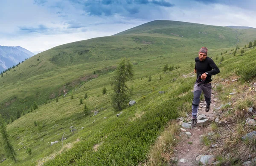
[[0,133],[1,133],[1,136],[2,136],[2,140],[1,142],[3,142],[3,146],[4,146],[4,149],[6,151],[6,156],[7,157],[11,157],[12,160],[15,161],[16,163],[16,153],[11,145],[11,142],[9,140],[9,135],[8,133],[6,132],[6,126],[5,126],[5,122],[0,114]]

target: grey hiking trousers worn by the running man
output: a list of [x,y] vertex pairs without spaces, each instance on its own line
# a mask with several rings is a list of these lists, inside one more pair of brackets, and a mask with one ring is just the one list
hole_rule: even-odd
[[207,107],[211,104],[211,94],[212,94],[212,84],[202,84],[198,86],[198,82],[195,82],[194,86],[194,97],[192,102],[192,118],[197,118],[198,105],[200,102],[201,93],[204,92],[204,100],[207,104]]

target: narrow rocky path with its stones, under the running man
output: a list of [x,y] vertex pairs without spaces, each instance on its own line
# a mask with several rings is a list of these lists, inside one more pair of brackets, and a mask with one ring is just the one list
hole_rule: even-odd
[[189,127],[191,123],[191,114],[189,114],[187,119],[184,118],[184,120],[189,120],[189,123],[180,121],[180,124],[182,125],[182,129],[180,130],[180,141],[175,148],[175,155],[172,157],[172,160],[175,161],[176,165],[198,166],[199,161],[203,164],[212,163],[213,156],[204,148],[204,145],[201,142],[201,137],[203,137],[204,134],[211,133],[209,124],[210,121],[215,120],[217,116],[213,111],[217,108],[217,103],[217,94],[212,91],[210,111],[205,112],[206,103],[204,100],[199,104],[198,119],[202,120],[198,120],[196,127]]

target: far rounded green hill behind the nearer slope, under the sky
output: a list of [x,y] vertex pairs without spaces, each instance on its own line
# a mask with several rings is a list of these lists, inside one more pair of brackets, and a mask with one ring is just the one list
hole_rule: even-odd
[[[240,47],[244,46],[256,37],[254,31],[156,20],[110,37],[57,46],[3,74],[1,113],[6,119],[15,117],[17,110],[26,111],[34,101],[42,104],[64,94],[64,90],[69,92],[87,80],[112,72],[121,57],[138,63],[137,72],[152,74],[166,60],[174,65],[192,62],[201,46],[207,46],[209,53],[213,49],[235,47],[238,40]],[[150,67],[148,63],[152,63]]]

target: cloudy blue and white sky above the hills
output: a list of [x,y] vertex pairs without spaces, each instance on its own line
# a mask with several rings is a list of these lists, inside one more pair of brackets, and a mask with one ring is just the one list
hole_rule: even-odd
[[152,20],[256,28],[255,0],[0,0],[0,45],[37,53]]

